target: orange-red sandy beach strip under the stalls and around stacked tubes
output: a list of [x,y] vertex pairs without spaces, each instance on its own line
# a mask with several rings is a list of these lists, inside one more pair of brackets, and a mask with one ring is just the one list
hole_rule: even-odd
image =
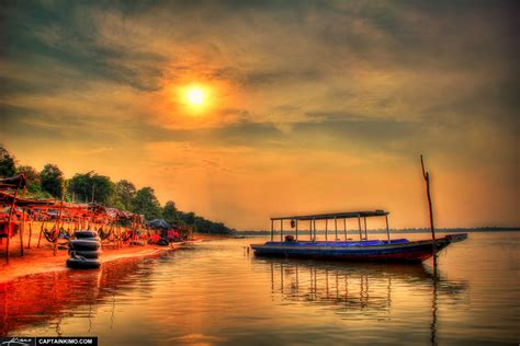
[[[101,263],[109,263],[114,261],[122,261],[127,258],[137,257],[150,257],[157,256],[163,253],[169,253],[178,250],[182,250],[183,246],[221,239],[221,237],[212,237],[212,234],[194,234],[193,240],[171,243],[169,246],[159,246],[146,244],[139,245],[124,245],[121,249],[103,249],[102,255],[100,256]],[[67,250],[58,250],[56,256],[53,255],[53,247],[48,245],[31,246],[31,249],[23,249],[24,256],[21,256],[20,242],[13,241],[9,264],[4,260],[4,251],[1,251],[2,257],[0,258],[0,285],[4,285],[16,279],[22,279],[35,274],[64,272],[64,270],[79,270],[68,268],[65,264],[69,258]],[[95,269],[94,269],[95,270]]]

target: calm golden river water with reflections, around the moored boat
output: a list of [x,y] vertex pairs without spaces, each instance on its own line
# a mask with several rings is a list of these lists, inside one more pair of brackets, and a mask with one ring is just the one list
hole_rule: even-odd
[[519,232],[470,233],[441,253],[438,279],[429,262],[262,260],[245,252],[250,242],[261,240],[0,285],[0,334],[101,345],[520,342]]

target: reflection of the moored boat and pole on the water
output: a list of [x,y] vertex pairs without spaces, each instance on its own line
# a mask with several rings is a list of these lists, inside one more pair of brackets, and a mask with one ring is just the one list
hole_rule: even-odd
[[412,289],[430,292],[430,342],[437,345],[439,299],[467,300],[467,281],[451,281],[422,265],[338,264],[298,260],[255,258],[270,266],[271,293],[290,303],[317,304],[342,319],[391,320],[393,297]]

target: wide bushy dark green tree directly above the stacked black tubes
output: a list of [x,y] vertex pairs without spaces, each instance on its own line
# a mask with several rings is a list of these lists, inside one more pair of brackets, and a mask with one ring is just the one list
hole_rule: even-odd
[[114,183],[94,171],[78,173],[69,181],[68,192],[75,196],[75,200],[92,201],[93,197],[93,201],[108,205],[114,196]]

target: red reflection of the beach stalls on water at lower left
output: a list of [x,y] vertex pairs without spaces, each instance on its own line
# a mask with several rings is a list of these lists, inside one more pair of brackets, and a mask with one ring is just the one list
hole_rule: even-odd
[[[65,270],[46,273],[0,284],[0,335],[25,325],[56,321],[56,334],[61,335],[64,318],[87,319],[88,333],[92,328],[93,307],[111,302],[110,323],[115,319],[115,307],[150,298],[152,258],[109,262],[99,270]],[[117,300],[117,302],[116,302]]]

